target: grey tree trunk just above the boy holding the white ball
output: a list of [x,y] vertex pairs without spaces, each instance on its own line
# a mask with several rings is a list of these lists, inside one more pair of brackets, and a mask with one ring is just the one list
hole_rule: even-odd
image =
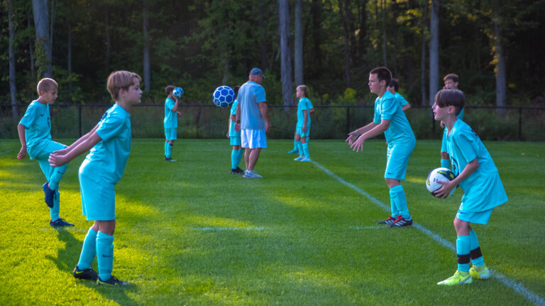
[[439,91],[439,0],[431,1],[429,22],[429,105]]

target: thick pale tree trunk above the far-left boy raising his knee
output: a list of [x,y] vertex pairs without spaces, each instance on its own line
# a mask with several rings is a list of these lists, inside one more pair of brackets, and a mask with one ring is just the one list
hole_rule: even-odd
[[[32,0],[34,13],[34,26],[36,29],[36,65],[43,73],[43,77],[53,77],[53,66],[51,62],[51,44],[49,32],[48,0]],[[38,77],[42,73],[38,73]]]

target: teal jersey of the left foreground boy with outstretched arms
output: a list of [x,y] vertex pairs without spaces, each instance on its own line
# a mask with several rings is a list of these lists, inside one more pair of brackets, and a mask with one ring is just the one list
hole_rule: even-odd
[[89,151],[79,173],[99,184],[116,184],[131,153],[131,114],[119,104],[114,104],[98,125],[97,135],[101,141]]

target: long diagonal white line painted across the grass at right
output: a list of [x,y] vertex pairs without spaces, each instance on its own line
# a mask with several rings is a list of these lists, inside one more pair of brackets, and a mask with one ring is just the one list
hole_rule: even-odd
[[[377,204],[379,207],[382,207],[382,209],[384,209],[385,211],[390,212],[390,207],[386,206],[384,203],[380,202],[372,195],[369,195],[367,192],[363,191],[359,187],[356,187],[355,185],[352,185],[351,183],[346,182],[346,180],[343,180],[342,177],[339,177],[335,173],[332,173],[330,170],[328,170],[327,168],[324,168],[322,165],[320,165],[319,163],[316,163],[314,160],[311,163],[316,165],[316,167],[320,168],[321,170],[324,170],[325,173],[327,173],[329,176],[333,177],[334,179],[338,180],[338,182],[341,182],[343,185],[351,187],[353,190],[356,190],[356,192],[358,192],[360,195],[367,197],[369,200],[371,200],[371,202]],[[431,237],[431,239],[434,239],[435,241],[439,242],[439,244],[441,244],[442,246],[445,246],[446,248],[450,248],[452,251],[456,252],[456,246],[446,241],[444,238],[441,238],[441,236],[439,236],[438,234],[435,234],[433,231],[426,229],[424,226],[417,224],[416,222],[414,222],[412,226],[416,229],[419,229],[420,231],[422,231],[424,234],[428,235],[429,237]],[[510,278],[507,278],[505,275],[502,275],[499,272],[493,271],[492,269],[490,269],[490,271],[493,272],[493,273],[490,273],[490,275],[493,278],[497,278],[497,280],[500,280],[501,283],[511,288],[515,292],[519,293],[519,295],[526,297],[535,305],[545,306],[545,300],[543,297],[536,295],[531,290],[524,287],[524,285],[519,284],[515,282],[514,280],[511,280]]]

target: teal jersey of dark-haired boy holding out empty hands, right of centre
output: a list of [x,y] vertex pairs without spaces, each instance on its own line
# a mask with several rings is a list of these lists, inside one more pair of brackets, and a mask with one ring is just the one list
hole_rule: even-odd
[[373,122],[380,124],[382,120],[390,120],[390,126],[384,132],[388,146],[407,147],[412,152],[416,138],[401,105],[391,92],[386,91],[382,97],[375,99],[375,117]]

